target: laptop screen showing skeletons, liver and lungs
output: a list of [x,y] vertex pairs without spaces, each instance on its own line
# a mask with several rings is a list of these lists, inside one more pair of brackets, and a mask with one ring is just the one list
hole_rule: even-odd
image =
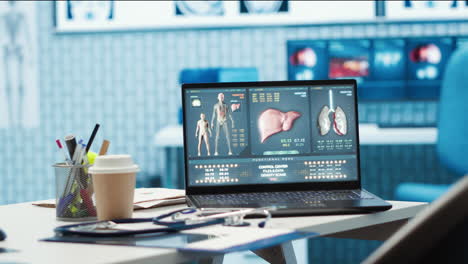
[[251,84],[184,86],[187,187],[359,180],[353,81]]

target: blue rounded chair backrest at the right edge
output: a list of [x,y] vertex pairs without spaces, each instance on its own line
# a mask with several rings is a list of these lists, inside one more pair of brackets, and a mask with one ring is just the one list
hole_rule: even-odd
[[460,175],[468,173],[468,47],[458,49],[446,67],[438,131],[441,162]]

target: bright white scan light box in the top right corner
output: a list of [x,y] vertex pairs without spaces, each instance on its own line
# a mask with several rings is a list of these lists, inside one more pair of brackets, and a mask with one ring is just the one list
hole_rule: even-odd
[[386,1],[386,18],[391,20],[468,19],[468,1]]

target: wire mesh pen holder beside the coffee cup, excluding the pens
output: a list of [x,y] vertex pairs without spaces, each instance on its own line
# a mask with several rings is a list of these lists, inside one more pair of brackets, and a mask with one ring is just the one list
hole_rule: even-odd
[[96,219],[90,165],[54,164],[57,220],[88,221]]

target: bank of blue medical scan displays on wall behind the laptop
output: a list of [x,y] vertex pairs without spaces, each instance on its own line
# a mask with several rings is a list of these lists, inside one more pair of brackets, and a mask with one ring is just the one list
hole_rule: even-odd
[[468,38],[288,41],[288,77],[353,78],[361,100],[436,100],[455,46]]

